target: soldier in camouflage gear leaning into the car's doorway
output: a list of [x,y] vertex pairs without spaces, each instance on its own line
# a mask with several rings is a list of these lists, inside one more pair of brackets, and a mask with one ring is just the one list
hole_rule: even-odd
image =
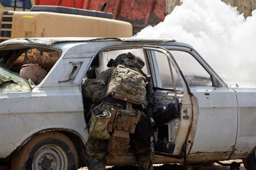
[[[135,149],[138,169],[151,170],[153,166],[149,154],[149,143],[137,140],[136,135],[132,134],[135,127],[126,124],[131,121],[133,121],[133,124],[137,124],[136,121],[144,115],[142,105],[146,104],[146,79],[139,73],[144,67],[144,62],[128,52],[119,55],[114,61],[112,60],[112,63],[109,62],[108,66],[110,68],[99,74],[94,83],[89,86],[82,86],[84,98],[92,98],[95,103],[101,102],[99,106],[92,110],[90,136],[85,150],[87,167],[90,170],[105,169],[107,153],[113,156],[125,154],[130,144]],[[106,114],[106,111],[109,114]],[[109,116],[110,112],[111,118]],[[101,123],[101,135],[94,135],[95,127],[97,128],[96,122],[100,120],[98,118],[95,121],[95,118],[99,114],[106,115],[106,119],[103,120],[106,123],[114,124],[110,121],[113,120],[116,121],[114,125],[120,125],[120,127],[113,127],[114,132],[112,132],[109,126],[109,134],[106,133],[107,125],[102,128]],[[128,128],[123,127],[123,125],[128,125]],[[122,128],[123,130],[119,130]],[[128,134],[128,136],[122,138],[125,134]]]

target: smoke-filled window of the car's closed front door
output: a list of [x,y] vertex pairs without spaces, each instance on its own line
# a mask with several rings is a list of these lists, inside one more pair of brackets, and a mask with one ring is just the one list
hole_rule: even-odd
[[180,67],[188,86],[212,86],[210,74],[188,52],[171,50],[178,67]]

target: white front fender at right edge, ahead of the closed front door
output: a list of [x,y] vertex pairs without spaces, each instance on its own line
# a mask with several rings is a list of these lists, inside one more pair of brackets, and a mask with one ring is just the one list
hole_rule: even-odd
[[238,137],[232,159],[245,158],[256,146],[256,88],[233,87],[238,97]]

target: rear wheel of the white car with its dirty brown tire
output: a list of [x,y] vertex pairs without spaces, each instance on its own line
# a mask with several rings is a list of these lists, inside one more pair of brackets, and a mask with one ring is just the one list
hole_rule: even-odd
[[33,137],[11,159],[11,169],[75,170],[78,153],[71,140],[60,132]]

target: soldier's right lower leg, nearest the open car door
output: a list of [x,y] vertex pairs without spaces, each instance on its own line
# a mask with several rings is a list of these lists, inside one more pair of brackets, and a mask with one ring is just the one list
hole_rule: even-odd
[[135,149],[135,157],[139,170],[153,170],[153,164],[149,155],[149,144],[145,142],[139,142],[134,135],[130,135],[131,145]]

